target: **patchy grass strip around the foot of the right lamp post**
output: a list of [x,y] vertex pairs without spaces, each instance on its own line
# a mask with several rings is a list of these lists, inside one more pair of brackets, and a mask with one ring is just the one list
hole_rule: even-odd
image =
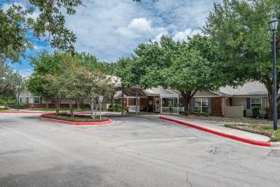
[[272,125],[260,125],[260,124],[246,124],[246,123],[228,123],[225,127],[234,128],[237,130],[244,130],[247,132],[253,132],[255,134],[262,134],[270,137],[270,141],[280,141],[280,127],[274,131]]

